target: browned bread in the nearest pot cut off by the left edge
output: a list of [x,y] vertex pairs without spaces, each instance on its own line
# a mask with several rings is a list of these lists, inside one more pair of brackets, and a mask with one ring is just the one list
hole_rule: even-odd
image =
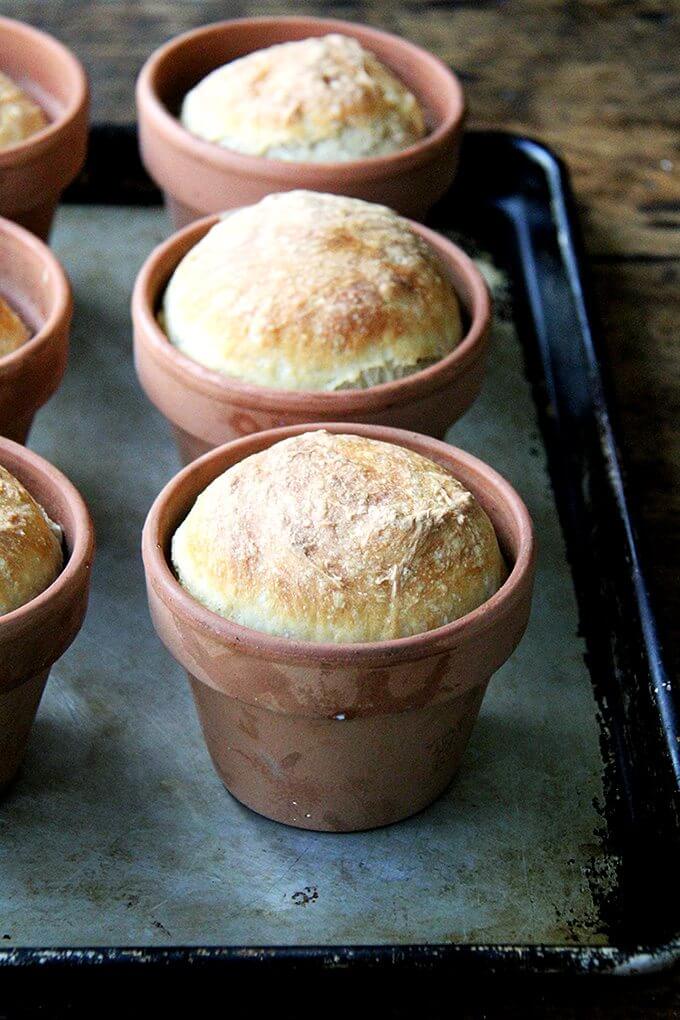
[[44,592],[62,562],[61,529],[0,466],[0,615]]

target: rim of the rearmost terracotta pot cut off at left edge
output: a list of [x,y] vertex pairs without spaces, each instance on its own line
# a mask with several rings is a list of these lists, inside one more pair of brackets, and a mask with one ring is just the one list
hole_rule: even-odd
[[22,36],[28,46],[39,45],[42,49],[52,52],[57,60],[61,61],[62,67],[72,78],[74,83],[73,96],[65,106],[65,109],[54,120],[50,120],[45,128],[31,135],[30,138],[15,145],[10,145],[6,149],[0,150],[0,168],[12,166],[16,163],[28,162],[30,159],[42,155],[52,148],[57,136],[77,120],[84,108],[87,107],[90,97],[90,87],[85,67],[74,53],[60,43],[54,36],[47,32],[34,29],[32,24],[18,21],[12,17],[0,16],[0,39],[3,33],[11,33],[13,36]]

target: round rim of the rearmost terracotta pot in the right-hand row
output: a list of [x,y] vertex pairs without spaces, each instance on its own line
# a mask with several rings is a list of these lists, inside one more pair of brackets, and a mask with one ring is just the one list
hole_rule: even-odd
[[[197,138],[182,128],[177,117],[173,116],[165,104],[159,98],[156,91],[156,73],[159,66],[167,59],[171,58],[177,50],[188,43],[193,43],[197,39],[219,33],[228,33],[242,26],[266,29],[273,26],[298,26],[300,28],[318,27],[327,32],[339,32],[345,35],[354,35],[356,30],[361,30],[363,37],[370,41],[380,40],[393,48],[399,48],[402,52],[408,50],[416,57],[421,64],[426,65],[431,73],[437,75],[442,87],[448,87],[448,110],[441,121],[425,138],[401,149],[398,152],[389,153],[385,156],[366,156],[361,159],[347,160],[346,162],[311,162],[309,160],[285,160],[271,159],[268,156],[252,156],[245,153],[234,152],[223,148],[216,143],[206,142]],[[370,42],[368,43],[370,48]],[[254,52],[254,51],[252,51]],[[265,176],[278,181],[296,180],[301,183],[311,181],[316,182],[320,174],[341,173],[343,175],[351,173],[357,176],[374,176],[381,172],[399,172],[407,167],[419,166],[435,153],[442,143],[459,132],[465,119],[466,106],[463,86],[458,75],[447,66],[447,64],[433,53],[429,53],[421,46],[411,43],[394,33],[383,32],[371,26],[363,24],[359,21],[348,21],[346,19],[333,17],[313,17],[307,15],[270,15],[261,17],[229,18],[222,21],[214,21],[211,24],[193,29],[175,36],[167,43],[160,46],[151,54],[144,64],[137,80],[137,101],[141,118],[145,116],[153,123],[156,131],[165,137],[165,140],[177,149],[181,149],[187,154],[200,157],[202,162],[211,163],[224,170],[236,171],[249,176]],[[318,187],[317,187],[318,190]]]

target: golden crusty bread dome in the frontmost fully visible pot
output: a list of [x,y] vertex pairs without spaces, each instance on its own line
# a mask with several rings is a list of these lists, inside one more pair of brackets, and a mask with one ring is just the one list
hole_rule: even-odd
[[255,630],[385,641],[458,619],[503,583],[493,526],[449,471],[323,430],[230,467],[172,539],[180,583]]

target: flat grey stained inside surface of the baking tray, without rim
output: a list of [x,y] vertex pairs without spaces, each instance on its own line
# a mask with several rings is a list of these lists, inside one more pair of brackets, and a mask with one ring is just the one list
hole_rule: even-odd
[[87,497],[99,551],[87,621],[0,813],[0,948],[607,942],[618,861],[596,707],[505,277],[482,260],[499,311],[488,378],[448,439],[528,504],[529,629],[436,804],[377,831],[309,833],[224,790],[147,612],[140,533],[178,460],[135,378],[128,302],[167,233],[159,208],[66,206],[53,237],[72,348],[31,445]]

